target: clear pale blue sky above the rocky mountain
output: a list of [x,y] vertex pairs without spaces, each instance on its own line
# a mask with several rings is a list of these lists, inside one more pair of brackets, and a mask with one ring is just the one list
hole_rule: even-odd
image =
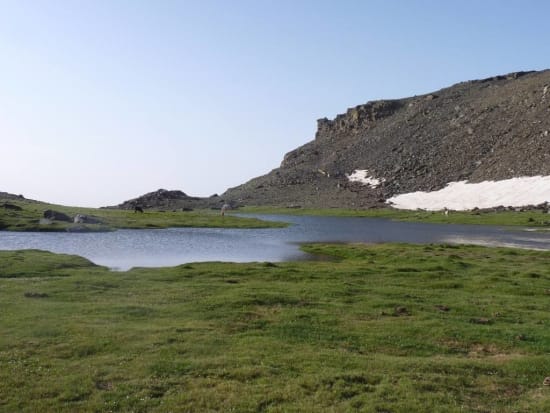
[[550,2],[0,0],[0,191],[222,193],[369,100],[550,68]]

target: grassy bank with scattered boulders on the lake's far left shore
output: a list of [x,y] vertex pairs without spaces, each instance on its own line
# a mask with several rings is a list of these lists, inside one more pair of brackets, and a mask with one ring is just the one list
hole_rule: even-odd
[[[4,207],[5,204],[11,208]],[[20,208],[13,209],[13,206]],[[44,211],[55,210],[73,218],[77,214],[98,218],[99,224],[78,225],[85,231],[112,231],[120,228],[169,228],[169,227],[215,227],[215,228],[271,228],[285,226],[283,223],[266,222],[258,219],[220,215],[219,211],[133,211],[103,208],[79,208],[51,205],[41,202],[0,200],[0,230],[8,231],[67,231],[75,228],[71,222],[54,220],[41,223]]]

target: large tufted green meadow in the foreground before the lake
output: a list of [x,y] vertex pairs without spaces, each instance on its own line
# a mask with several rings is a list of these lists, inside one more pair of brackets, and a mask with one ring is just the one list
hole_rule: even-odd
[[305,249],[334,259],[0,252],[0,411],[550,410],[549,253]]

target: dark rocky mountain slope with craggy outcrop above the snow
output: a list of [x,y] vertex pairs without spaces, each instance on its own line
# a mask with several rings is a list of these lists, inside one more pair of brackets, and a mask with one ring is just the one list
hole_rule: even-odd
[[221,196],[238,205],[369,207],[461,180],[550,175],[550,71],[368,102]]

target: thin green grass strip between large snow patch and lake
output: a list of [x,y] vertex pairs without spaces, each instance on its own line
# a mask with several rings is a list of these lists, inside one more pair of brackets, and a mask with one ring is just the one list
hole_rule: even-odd
[[503,226],[529,226],[550,228],[550,215],[541,211],[453,211],[445,215],[441,211],[411,211],[393,208],[373,209],[310,209],[310,208],[276,208],[276,207],[243,207],[239,212],[284,214],[284,215],[321,215],[341,217],[387,218],[398,221],[432,222],[438,224],[478,224]]

